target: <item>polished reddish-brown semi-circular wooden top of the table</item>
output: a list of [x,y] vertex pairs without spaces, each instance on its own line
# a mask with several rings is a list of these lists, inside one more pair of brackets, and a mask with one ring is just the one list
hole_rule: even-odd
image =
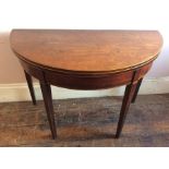
[[157,31],[13,29],[11,47],[39,67],[79,73],[120,72],[156,59]]

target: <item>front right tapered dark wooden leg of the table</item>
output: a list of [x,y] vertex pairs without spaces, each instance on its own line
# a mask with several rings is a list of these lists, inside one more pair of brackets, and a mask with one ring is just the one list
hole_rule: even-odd
[[135,92],[136,88],[136,84],[129,84],[125,87],[125,93],[124,93],[124,97],[123,97],[123,101],[122,101],[122,107],[121,107],[121,111],[120,111],[120,118],[119,118],[119,122],[118,122],[118,128],[117,128],[117,133],[116,133],[116,138],[118,138],[121,134],[123,124],[124,124],[124,120],[131,104],[131,100],[133,98],[133,94]]

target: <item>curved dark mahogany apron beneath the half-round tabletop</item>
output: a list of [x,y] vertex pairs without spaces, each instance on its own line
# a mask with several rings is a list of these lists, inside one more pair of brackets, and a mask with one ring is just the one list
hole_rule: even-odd
[[116,86],[130,84],[135,71],[140,71],[137,77],[134,80],[137,82],[142,79],[150,69],[152,62],[141,68],[108,74],[71,74],[59,72],[56,70],[49,70],[41,67],[36,67],[26,61],[20,60],[23,69],[39,81],[45,81],[51,85],[71,89],[104,89]]

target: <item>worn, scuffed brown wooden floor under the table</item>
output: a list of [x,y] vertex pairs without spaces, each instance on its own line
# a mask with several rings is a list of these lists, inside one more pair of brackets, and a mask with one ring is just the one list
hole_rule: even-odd
[[53,100],[58,138],[51,140],[44,102],[0,104],[0,146],[169,146],[169,94],[138,96],[122,135],[113,138],[121,97]]

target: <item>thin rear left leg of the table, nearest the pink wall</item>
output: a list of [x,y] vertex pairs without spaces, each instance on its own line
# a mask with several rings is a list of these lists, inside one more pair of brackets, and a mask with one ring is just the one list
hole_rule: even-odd
[[26,71],[24,71],[24,72],[25,72],[25,77],[26,77],[26,81],[27,81],[27,86],[29,88],[29,93],[31,93],[31,96],[32,96],[33,104],[36,105],[36,98],[35,98],[35,92],[34,92],[32,76]]

